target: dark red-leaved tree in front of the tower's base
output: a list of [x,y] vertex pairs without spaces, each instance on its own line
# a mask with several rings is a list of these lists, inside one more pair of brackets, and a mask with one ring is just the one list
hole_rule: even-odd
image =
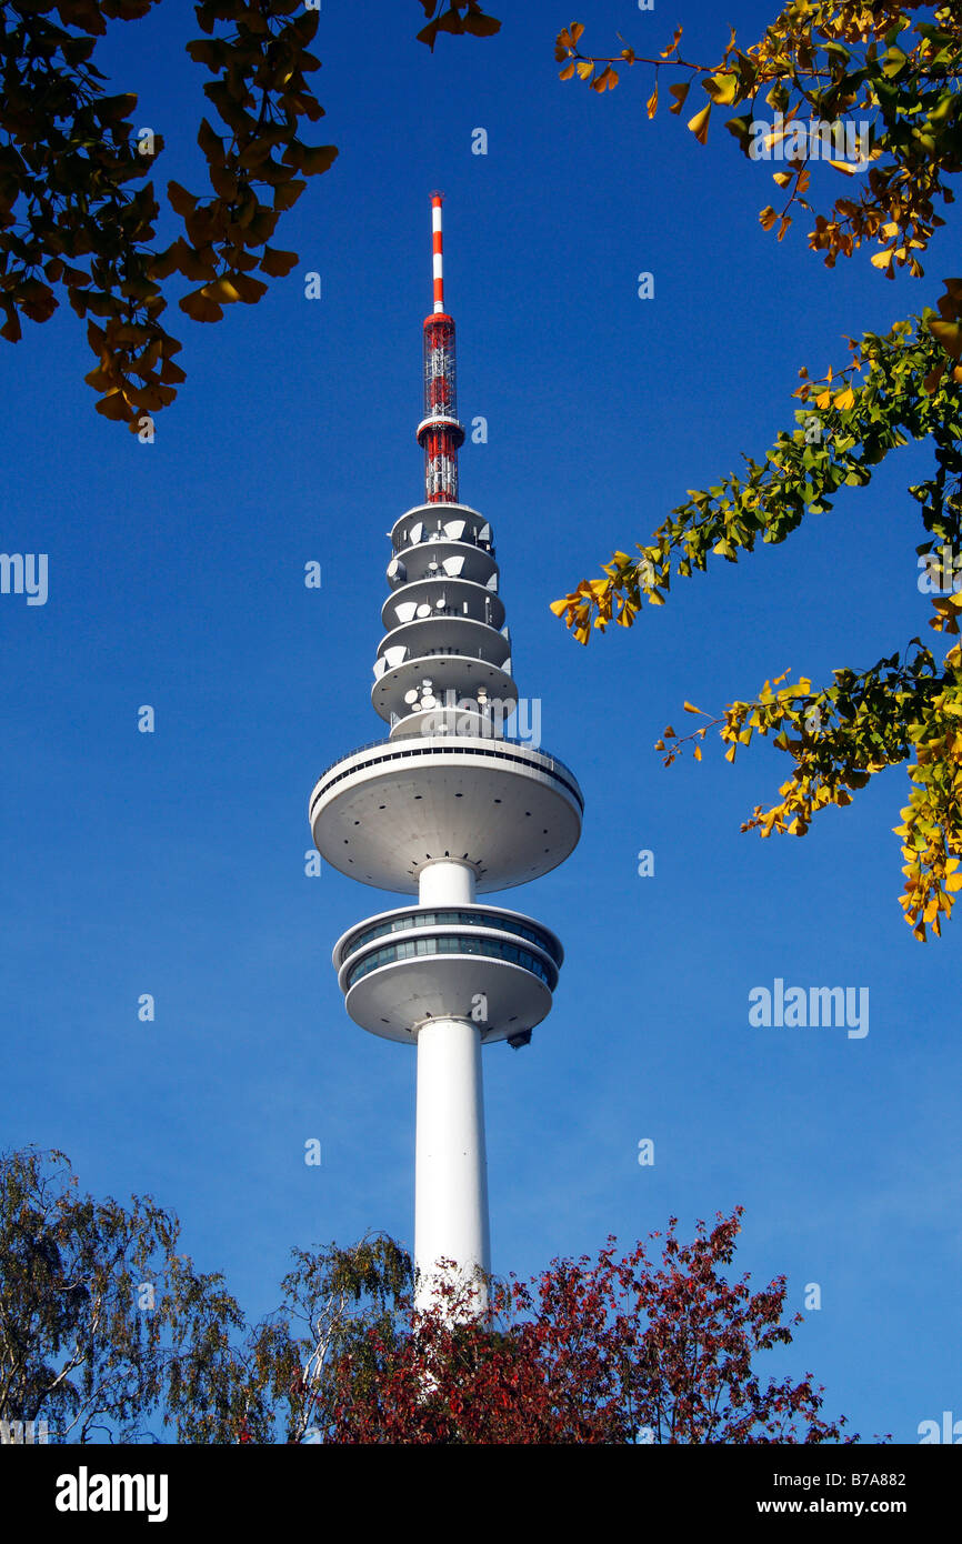
[[661,1261],[644,1243],[596,1261],[554,1260],[528,1283],[493,1283],[494,1312],[468,1289],[408,1306],[335,1368],[334,1442],[855,1442],[821,1414],[811,1376],[761,1382],[755,1357],[788,1345],[786,1280],[752,1292],[720,1274],[743,1207],[692,1243],[669,1221]]

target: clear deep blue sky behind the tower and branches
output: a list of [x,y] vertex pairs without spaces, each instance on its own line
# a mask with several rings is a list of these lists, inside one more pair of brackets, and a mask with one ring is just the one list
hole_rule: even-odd
[[[3,1144],[63,1149],[96,1194],[151,1192],[252,1317],[293,1244],[412,1241],[414,1056],[352,1025],[330,965],[344,928],[398,902],[307,879],[304,854],[320,770],[383,729],[371,667],[384,533],[423,486],[439,187],[460,414],[489,434],[462,452],[462,497],[494,528],[519,690],[585,794],[573,857],[505,894],[567,960],[531,1045],[485,1051],[494,1266],[525,1275],[672,1214],[689,1235],[743,1204],[738,1268],[758,1286],[784,1272],[792,1309],[821,1288],[769,1370],[811,1370],[828,1413],[914,1442],[962,1416],[960,939],[950,923],[919,945],[902,920],[905,770],[804,841],[760,841],[738,828],[784,758],[760,746],[732,767],[715,741],[666,770],[652,746],[686,698],[720,709],[788,667],[821,682],[928,631],[905,494],[928,455],[906,448],[781,547],[678,582],[587,650],[548,602],[760,455],[792,423],[800,364],[840,364],[843,334],[934,304],[959,216],[923,279],[889,284],[868,253],[829,272],[801,224],[761,232],[772,168],[718,119],[701,148],[667,113],[649,122],[641,69],[604,99],[564,85],[570,17],[491,9],[497,39],[431,56],[414,0],[324,0],[315,137],[340,157],[278,229],[298,267],[218,326],[182,318],[188,378],[153,446],[94,412],[66,306],[0,354],[0,547],[49,554],[46,605],[0,596]],[[713,59],[729,20],[747,42],[774,9],[601,0],[584,42],[656,52],[679,22],[686,57]],[[193,8],[168,0],[114,25],[105,57],[165,137],[158,181],[199,191],[190,36]],[[868,987],[869,1033],[750,1027],[749,991],[775,977]]]

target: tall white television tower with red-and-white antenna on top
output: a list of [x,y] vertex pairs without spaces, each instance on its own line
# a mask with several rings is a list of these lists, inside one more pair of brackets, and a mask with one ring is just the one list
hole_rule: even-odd
[[479,902],[556,868],[578,843],[574,775],[510,738],[517,707],[491,527],[459,503],[454,320],[445,310],[442,195],[431,196],[434,309],[425,320],[425,502],[391,531],[391,594],[372,703],[386,740],[341,757],[310,795],[323,858],[415,896],[349,928],[334,965],[349,1016],[417,1047],[417,1302],[449,1260],[491,1269],[482,1045],[514,1048],[551,1008],[564,951],[540,922]]

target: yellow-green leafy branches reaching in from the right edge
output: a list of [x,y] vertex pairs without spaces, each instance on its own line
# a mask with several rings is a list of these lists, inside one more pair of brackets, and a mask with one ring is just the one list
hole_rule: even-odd
[[[766,204],[763,230],[778,222],[778,239],[800,212],[812,219],[808,242],[828,267],[876,247],[872,267],[886,278],[905,269],[923,275],[922,256],[945,221],[939,208],[954,201],[962,171],[962,22],[959,8],[919,3],[872,5],[857,0],[789,0],[764,34],[740,46],[732,31],[715,62],[681,54],[683,29],[658,56],[630,45],[619,54],[588,51],[584,25],[571,23],[556,40],[562,80],[587,82],[599,96],[615,90],[619,69],[641,71],[653,83],[647,116],[655,117],[659,82],[670,85],[669,113],[681,114],[689,91],[706,100],[687,120],[704,145],[713,110],[733,110],[726,128],[750,164],[750,176],[771,176],[780,212]],[[650,73],[650,74],[649,74]],[[664,100],[664,93],[662,93]],[[817,208],[825,127],[854,131],[857,156],[826,162],[828,188],[843,191]],[[846,139],[848,145],[848,139]],[[611,624],[632,627],[642,605],[664,605],[672,577],[689,579],[709,562],[735,564],[758,545],[783,542],[806,516],[832,510],[837,494],[866,488],[888,455],[913,442],[931,449],[931,476],[908,488],[923,527],[906,551],[926,567],[919,582],[931,601],[928,625],[959,631],[962,599],[962,279],[945,278],[943,293],[920,315],[886,334],[848,338],[849,358],[820,375],[798,371],[801,401],[792,428],[761,455],[743,455],[740,474],[709,488],[690,488],[638,554],[615,551],[602,574],[582,579],[553,602],[581,644]],[[781,661],[778,661],[781,664]],[[755,735],[794,761],[778,800],[755,806],[743,831],[763,837],[803,837],[815,815],[846,806],[879,772],[908,763],[909,792],[893,829],[902,838],[900,896],[916,939],[939,934],[962,888],[962,661],[959,647],[943,659],[913,638],[868,669],[838,669],[812,689],[808,676],[781,686],[789,672],[766,681],[750,698],[704,713],[703,724],[678,736],[667,726],[655,749],[670,766],[690,747],[701,760],[707,730],[718,729],[726,760]],[[686,704],[689,712],[701,713]]]

